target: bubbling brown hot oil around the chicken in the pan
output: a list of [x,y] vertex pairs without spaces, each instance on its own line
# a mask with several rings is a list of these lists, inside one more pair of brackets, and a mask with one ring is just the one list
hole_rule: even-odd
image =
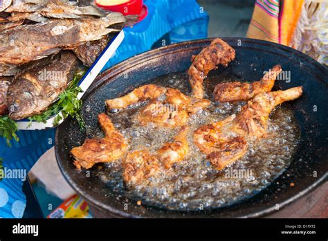
[[[205,83],[210,93],[215,80]],[[228,81],[228,80],[226,80]],[[190,94],[185,73],[166,75],[152,81],[165,87],[176,88]],[[118,114],[109,114],[116,128],[129,140],[129,152],[148,149],[151,152],[174,139],[175,130],[156,127],[149,123],[138,125],[136,115],[147,102],[133,105]],[[103,164],[99,177],[112,191],[143,204],[171,210],[192,211],[227,206],[255,195],[278,177],[291,162],[299,140],[299,129],[293,111],[283,105],[277,107],[268,120],[268,133],[255,143],[248,143],[247,154],[217,171],[206,156],[194,145],[193,132],[201,125],[222,120],[237,113],[244,102],[216,104],[190,116],[188,126],[189,151],[185,159],[174,164],[170,170],[159,173],[136,188],[128,189],[122,179],[121,160]]]

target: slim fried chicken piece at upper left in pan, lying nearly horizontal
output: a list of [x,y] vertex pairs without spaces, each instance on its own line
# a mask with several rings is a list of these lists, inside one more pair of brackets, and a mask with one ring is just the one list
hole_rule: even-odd
[[134,91],[125,96],[112,100],[106,100],[106,105],[107,109],[124,109],[139,101],[156,100],[165,93],[166,89],[164,87],[155,84],[146,84],[142,87],[134,89]]

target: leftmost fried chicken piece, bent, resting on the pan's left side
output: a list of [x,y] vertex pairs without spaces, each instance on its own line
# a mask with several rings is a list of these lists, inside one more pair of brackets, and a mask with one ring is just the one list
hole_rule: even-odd
[[83,145],[71,150],[76,168],[91,168],[95,163],[116,161],[125,153],[127,143],[104,113],[99,114],[98,121],[105,137],[103,139],[86,139]]

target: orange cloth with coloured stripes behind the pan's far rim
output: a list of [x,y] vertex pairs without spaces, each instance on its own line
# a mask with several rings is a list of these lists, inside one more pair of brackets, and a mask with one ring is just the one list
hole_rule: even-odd
[[247,37],[289,46],[304,0],[257,0]]

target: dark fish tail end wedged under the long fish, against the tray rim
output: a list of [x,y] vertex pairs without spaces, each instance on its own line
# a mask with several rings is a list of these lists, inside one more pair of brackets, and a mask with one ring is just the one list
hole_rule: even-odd
[[83,62],[85,66],[91,66],[95,59],[100,55],[100,53],[106,48],[108,44],[108,37],[103,37],[102,39],[87,42],[76,48],[73,48],[75,55]]

